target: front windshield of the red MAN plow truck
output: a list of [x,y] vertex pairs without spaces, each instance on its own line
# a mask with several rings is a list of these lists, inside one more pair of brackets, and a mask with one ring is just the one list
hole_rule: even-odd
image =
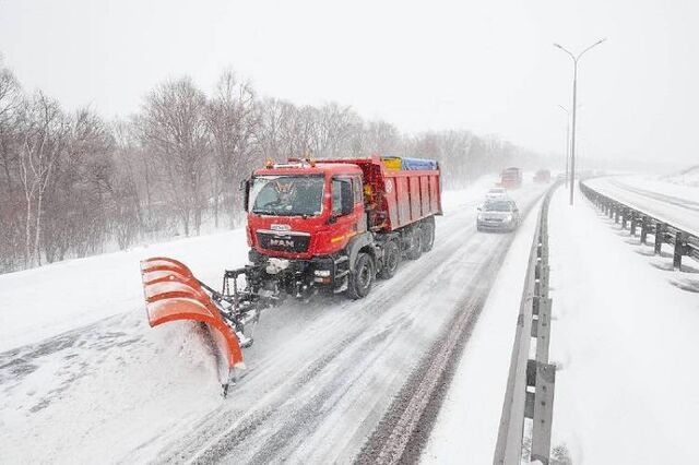
[[322,176],[258,176],[250,190],[251,212],[260,215],[318,216],[323,206]]

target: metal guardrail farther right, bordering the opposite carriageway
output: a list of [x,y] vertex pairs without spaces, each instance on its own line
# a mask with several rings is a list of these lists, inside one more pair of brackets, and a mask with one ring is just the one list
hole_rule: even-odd
[[648,235],[651,234],[655,238],[654,251],[660,254],[663,243],[673,247],[673,266],[682,267],[682,258],[690,257],[699,260],[699,236],[683,230],[682,228],[663,222],[652,215],[631,207],[611,196],[604,195],[580,181],[580,190],[594,205],[597,206],[609,218],[614,218],[614,223],[621,223],[621,229],[629,226],[631,236],[636,236],[638,231],[641,243],[648,243]]

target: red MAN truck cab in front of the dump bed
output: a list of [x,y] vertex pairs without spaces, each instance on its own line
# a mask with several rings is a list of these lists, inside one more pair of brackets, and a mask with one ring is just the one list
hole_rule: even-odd
[[248,245],[262,255],[329,255],[367,230],[356,165],[276,165],[257,170],[249,192]]

